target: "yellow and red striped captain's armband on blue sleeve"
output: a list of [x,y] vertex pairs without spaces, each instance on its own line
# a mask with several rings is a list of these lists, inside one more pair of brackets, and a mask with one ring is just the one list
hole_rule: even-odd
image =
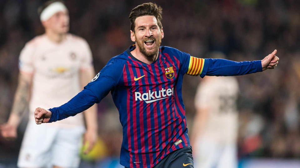
[[204,66],[204,59],[203,58],[190,58],[190,63],[188,65],[187,74],[192,76],[198,76],[202,73]]

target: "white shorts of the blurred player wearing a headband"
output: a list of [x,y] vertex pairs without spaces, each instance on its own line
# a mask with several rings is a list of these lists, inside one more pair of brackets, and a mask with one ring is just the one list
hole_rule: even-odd
[[79,166],[84,126],[59,128],[29,120],[18,158],[18,167]]

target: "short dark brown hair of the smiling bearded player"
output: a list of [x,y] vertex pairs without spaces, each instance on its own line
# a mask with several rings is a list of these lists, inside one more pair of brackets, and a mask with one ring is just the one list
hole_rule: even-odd
[[161,20],[162,17],[163,8],[160,6],[157,6],[155,3],[148,2],[143,3],[142,5],[138,5],[137,7],[133,8],[129,14],[129,20],[131,24],[131,30],[134,32],[135,28],[135,19],[139,16],[155,16],[157,19],[157,23],[160,29],[163,28]]

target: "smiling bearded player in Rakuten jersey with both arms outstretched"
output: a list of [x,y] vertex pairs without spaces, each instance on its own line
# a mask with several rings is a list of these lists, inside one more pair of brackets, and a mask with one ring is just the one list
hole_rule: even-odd
[[144,3],[132,9],[131,40],[125,52],[106,66],[66,104],[37,108],[37,124],[76,115],[109,92],[123,126],[120,164],[125,167],[191,168],[192,147],[182,100],[183,75],[233,76],[274,69],[276,50],[259,61],[202,59],[160,46],[164,37],[162,8]]

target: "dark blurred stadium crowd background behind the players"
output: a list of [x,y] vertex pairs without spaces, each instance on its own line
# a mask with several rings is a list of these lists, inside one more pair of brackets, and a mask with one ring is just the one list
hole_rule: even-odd
[[[0,124],[6,122],[16,90],[18,56],[24,44],[43,33],[37,8],[44,1],[0,0]],[[130,10],[144,0],[66,0],[70,32],[85,38],[96,72],[133,44]],[[152,1],[155,2],[155,1]],[[239,167],[300,167],[300,1],[156,1],[163,7],[162,45],[205,58],[221,51],[234,61],[258,60],[277,49],[279,67],[237,77],[240,85]],[[200,77],[186,76],[183,100],[187,127],[195,114]],[[63,103],[63,102],[62,102]],[[111,96],[98,105],[100,160],[81,167],[120,167],[122,129]],[[25,115],[27,116],[27,115]],[[27,119],[15,141],[0,137],[0,167],[16,167]],[[104,147],[104,148],[103,148]],[[121,166],[122,167],[122,166]]]

